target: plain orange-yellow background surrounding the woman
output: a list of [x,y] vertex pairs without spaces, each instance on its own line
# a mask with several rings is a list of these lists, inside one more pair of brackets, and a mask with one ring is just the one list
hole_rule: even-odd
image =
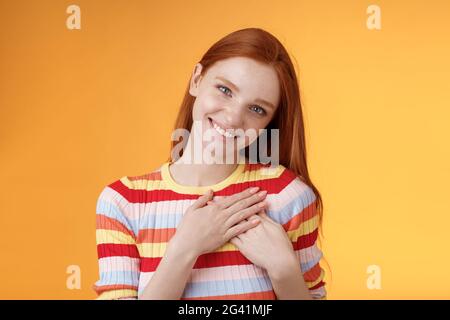
[[[66,28],[71,4],[81,30]],[[371,4],[381,30],[366,27]],[[166,159],[194,64],[261,27],[299,66],[328,298],[449,299],[449,12],[444,0],[1,0],[0,298],[95,297],[101,189]]]

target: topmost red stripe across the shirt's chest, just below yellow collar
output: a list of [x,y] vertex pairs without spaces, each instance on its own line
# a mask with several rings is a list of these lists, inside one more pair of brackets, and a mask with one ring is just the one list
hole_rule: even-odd
[[[267,190],[268,194],[278,194],[283,190],[296,176],[290,170],[283,170],[279,177],[270,179],[261,179],[257,181],[247,181],[232,184],[222,190],[214,193],[217,196],[229,196],[249,187],[258,186],[261,190]],[[183,194],[172,190],[135,190],[129,189],[122,181],[117,180],[109,185],[110,188],[120,193],[130,203],[148,203],[170,200],[197,199],[198,194]]]

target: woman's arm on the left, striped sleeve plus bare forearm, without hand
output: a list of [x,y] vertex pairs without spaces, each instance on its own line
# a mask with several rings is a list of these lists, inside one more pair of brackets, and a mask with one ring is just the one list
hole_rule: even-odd
[[144,291],[138,296],[140,257],[126,215],[106,188],[97,202],[97,249],[100,279],[97,300],[179,299],[197,256],[172,237],[166,253]]

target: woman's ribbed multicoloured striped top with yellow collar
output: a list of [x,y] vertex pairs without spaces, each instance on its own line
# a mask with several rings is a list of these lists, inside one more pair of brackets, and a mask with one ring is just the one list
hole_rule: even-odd
[[[124,176],[106,186],[97,200],[97,299],[135,298],[155,270],[184,212],[208,189],[229,196],[249,187],[267,190],[266,213],[292,241],[314,299],[326,299],[319,261],[319,215],[312,189],[283,165],[239,164],[211,186],[178,184],[164,163],[153,172]],[[198,257],[181,299],[276,299],[270,278],[230,242]]]

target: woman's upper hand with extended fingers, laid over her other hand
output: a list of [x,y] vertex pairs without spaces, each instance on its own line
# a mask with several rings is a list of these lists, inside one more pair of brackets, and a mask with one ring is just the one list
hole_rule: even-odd
[[[195,257],[214,251],[231,238],[257,226],[259,220],[247,221],[265,206],[266,191],[259,187],[211,202],[209,190],[186,211],[169,244]],[[208,203],[208,204],[207,204]]]

